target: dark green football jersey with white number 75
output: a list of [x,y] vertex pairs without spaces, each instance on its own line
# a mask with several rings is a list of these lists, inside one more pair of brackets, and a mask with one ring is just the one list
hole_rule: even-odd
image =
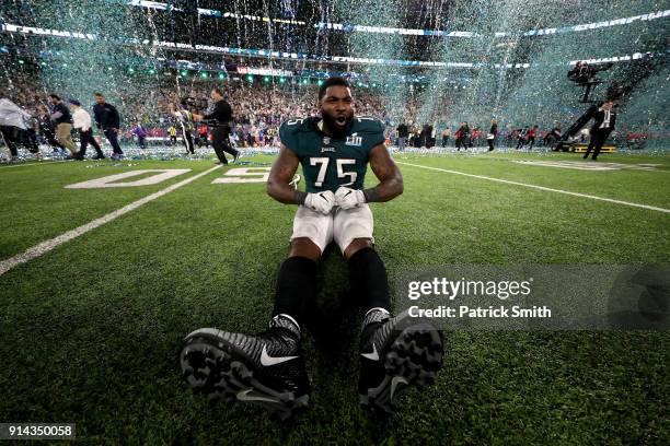
[[298,155],[305,191],[335,192],[339,186],[362,189],[370,150],[384,142],[379,119],[354,117],[345,138],[322,132],[321,118],[289,119],[279,128],[281,143]]

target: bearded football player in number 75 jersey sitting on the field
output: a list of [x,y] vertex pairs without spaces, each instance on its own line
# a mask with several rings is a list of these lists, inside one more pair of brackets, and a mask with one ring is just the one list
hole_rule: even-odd
[[[368,207],[403,192],[402,175],[384,146],[383,125],[354,116],[351,91],[342,78],[321,85],[319,106],[321,118],[284,122],[281,149],[267,181],[270,197],[298,206],[269,328],[255,336],[196,330],[184,340],[181,367],[188,385],[210,399],[261,404],[281,419],[307,407],[309,379],[300,348],[304,308],[316,298],[316,263],[334,240],[363,309],[360,403],[391,413],[400,390],[435,379],[442,339],[427,319],[390,314],[386,271],[374,250]],[[363,189],[368,163],[380,183]],[[298,165],[305,191],[289,185]]]

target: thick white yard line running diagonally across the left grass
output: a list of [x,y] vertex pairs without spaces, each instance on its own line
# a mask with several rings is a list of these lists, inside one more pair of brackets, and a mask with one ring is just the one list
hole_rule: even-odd
[[127,204],[120,209],[117,209],[116,211],[109,212],[106,215],[101,216],[100,219],[95,219],[82,226],[76,227],[71,231],[68,231],[63,234],[60,234],[57,237],[54,237],[51,239],[48,239],[46,242],[42,242],[38,245],[33,246],[32,248],[28,248],[25,250],[25,253],[16,255],[12,258],[9,258],[7,260],[2,260],[0,261],[0,275],[4,274],[7,271],[11,270],[12,268],[21,265],[21,263],[25,263],[28,260],[32,260],[34,258],[37,258],[39,256],[42,256],[43,254],[46,254],[48,251],[50,251],[51,249],[56,248],[57,246],[62,245],[66,242],[69,242],[71,239],[74,239],[77,237],[79,237],[80,235],[83,235],[90,231],[95,230],[96,227],[100,227],[106,223],[109,223],[111,221],[127,214],[128,212],[139,208],[142,204],[147,204],[150,201],[153,201],[158,198],[163,197],[164,195],[168,195],[170,192],[172,192],[173,190],[178,189],[182,186],[186,186],[187,184],[195,181],[198,178],[204,177],[205,175],[210,174],[211,172],[216,171],[217,168],[221,168],[221,166],[215,166],[208,171],[201,172],[197,175],[194,175],[189,178],[184,179],[183,181],[180,183],[175,183],[172,186],[166,187],[165,189],[159,190],[158,192],[153,192],[147,197],[140,198],[137,201],[131,202],[130,204]]

